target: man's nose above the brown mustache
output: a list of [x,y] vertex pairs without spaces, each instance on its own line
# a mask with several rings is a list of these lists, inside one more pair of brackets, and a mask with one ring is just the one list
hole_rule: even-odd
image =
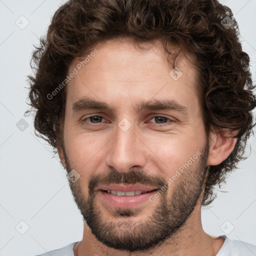
[[132,124],[124,131],[116,127],[115,135],[109,141],[105,163],[118,172],[128,172],[131,167],[144,168],[146,145]]

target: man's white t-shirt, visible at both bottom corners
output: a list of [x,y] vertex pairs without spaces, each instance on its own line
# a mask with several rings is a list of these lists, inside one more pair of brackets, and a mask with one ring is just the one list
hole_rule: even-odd
[[[255,256],[256,245],[239,240],[230,240],[226,235],[222,235],[225,239],[222,247],[216,256]],[[77,242],[72,242],[61,249],[51,250],[36,256],[74,256],[73,247]],[[49,253],[49,254],[48,254]]]

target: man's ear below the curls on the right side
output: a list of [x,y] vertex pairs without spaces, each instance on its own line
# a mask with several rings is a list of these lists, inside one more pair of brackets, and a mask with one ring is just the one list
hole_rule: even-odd
[[218,165],[233,151],[237,138],[232,138],[238,130],[219,129],[211,132],[207,165]]

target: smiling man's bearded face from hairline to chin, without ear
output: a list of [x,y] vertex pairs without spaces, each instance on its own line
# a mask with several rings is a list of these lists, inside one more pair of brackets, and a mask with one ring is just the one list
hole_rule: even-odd
[[[78,70],[66,88],[62,156],[67,171],[80,175],[70,188],[99,241],[146,250],[180,230],[200,203],[208,144],[196,70],[180,55],[176,66],[182,75],[173,79],[158,43],[143,52],[120,41],[95,48],[86,65],[74,60],[68,72]],[[82,99],[111,110],[85,108]],[[137,109],[157,100],[170,101],[170,108]],[[154,191],[137,194],[143,188]],[[118,189],[131,193],[115,195]]]

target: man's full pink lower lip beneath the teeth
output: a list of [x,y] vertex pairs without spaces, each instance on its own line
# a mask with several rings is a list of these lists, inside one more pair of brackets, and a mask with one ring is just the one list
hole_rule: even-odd
[[103,197],[103,199],[112,207],[132,208],[138,206],[146,200],[149,200],[149,197],[153,195],[156,190],[132,196],[118,196],[105,192],[103,190],[98,190],[98,192]]

